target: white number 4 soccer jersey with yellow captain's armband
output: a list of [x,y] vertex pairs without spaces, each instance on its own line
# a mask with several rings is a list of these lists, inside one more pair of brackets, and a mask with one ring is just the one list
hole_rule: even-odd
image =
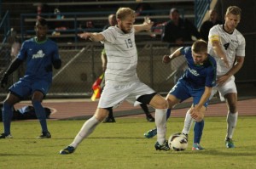
[[[222,76],[231,69],[236,56],[245,56],[245,38],[236,29],[232,34],[224,31],[223,26],[224,25],[214,25],[209,32],[208,54],[211,54],[216,59],[217,76]],[[229,61],[229,68],[227,68],[224,61],[214,53],[211,43],[212,39],[218,39],[221,43],[224,54]]]

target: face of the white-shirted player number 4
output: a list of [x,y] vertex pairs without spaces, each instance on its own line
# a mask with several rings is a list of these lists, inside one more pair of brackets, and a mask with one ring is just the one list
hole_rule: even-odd
[[233,32],[236,28],[236,26],[240,22],[240,15],[235,15],[235,14],[227,14],[225,15],[225,24],[224,24],[224,29],[225,31],[228,32]]

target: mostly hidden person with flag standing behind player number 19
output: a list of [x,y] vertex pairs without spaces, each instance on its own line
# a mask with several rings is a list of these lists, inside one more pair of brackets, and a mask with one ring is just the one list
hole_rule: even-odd
[[[115,26],[115,25],[117,25],[115,14],[109,14],[108,15],[108,25],[104,26],[103,31],[108,29],[109,26]],[[108,63],[107,54],[106,54],[105,49],[102,50],[101,57],[102,57],[102,70],[105,71],[107,69],[107,63]],[[140,104],[140,106],[146,115],[147,121],[154,122],[154,117],[150,114],[147,104]],[[104,122],[115,122],[114,117],[113,117],[113,109],[109,109],[108,117],[105,119]]]

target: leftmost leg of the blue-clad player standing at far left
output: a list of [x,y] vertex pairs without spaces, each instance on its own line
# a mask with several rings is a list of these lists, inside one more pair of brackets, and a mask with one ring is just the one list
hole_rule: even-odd
[[4,131],[0,138],[13,138],[10,132],[11,120],[13,117],[13,106],[18,103],[20,98],[13,93],[9,93],[3,101],[3,128]]

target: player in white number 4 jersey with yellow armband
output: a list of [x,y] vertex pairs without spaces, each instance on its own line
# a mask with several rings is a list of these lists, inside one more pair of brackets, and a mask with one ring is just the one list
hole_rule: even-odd
[[[241,20],[241,8],[236,6],[227,8],[224,20],[224,25],[215,25],[209,32],[208,54],[211,54],[217,62],[217,86],[215,92],[213,89],[212,96],[218,90],[228,107],[225,146],[235,148],[232,137],[236,127],[238,110],[234,75],[243,65],[246,46],[245,38],[236,30],[236,26]],[[195,135],[202,133],[202,122],[195,123],[195,127],[198,128],[194,130]],[[187,114],[183,128],[184,133],[189,133],[190,124],[191,117]],[[200,139],[201,136],[198,138],[199,142]]]

